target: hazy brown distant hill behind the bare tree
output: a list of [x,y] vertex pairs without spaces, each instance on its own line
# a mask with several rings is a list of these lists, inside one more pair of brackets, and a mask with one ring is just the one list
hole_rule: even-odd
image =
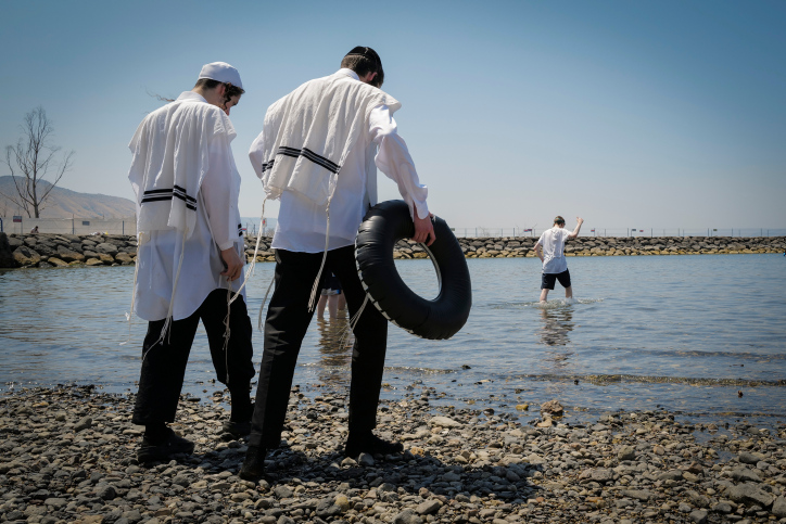
[[[48,188],[49,182],[39,182],[39,188]],[[12,177],[0,177],[0,193],[16,194]],[[105,194],[78,193],[69,189],[55,187],[47,199],[41,218],[121,218],[132,217],[136,213],[132,200]],[[17,215],[17,207],[0,194],[0,216]],[[21,213],[26,217],[24,212]]]

